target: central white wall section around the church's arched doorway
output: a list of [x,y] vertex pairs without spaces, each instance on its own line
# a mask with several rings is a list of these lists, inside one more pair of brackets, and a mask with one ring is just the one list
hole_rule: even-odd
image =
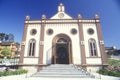
[[[77,34],[71,34],[71,29],[77,29]],[[48,29],[53,29],[52,35],[46,34]],[[44,38],[44,64],[50,64],[52,59],[52,40],[58,34],[66,34],[70,37],[72,42],[72,58],[74,64],[81,64],[81,53],[80,53],[80,39],[78,24],[46,24],[45,27],[45,38]]]

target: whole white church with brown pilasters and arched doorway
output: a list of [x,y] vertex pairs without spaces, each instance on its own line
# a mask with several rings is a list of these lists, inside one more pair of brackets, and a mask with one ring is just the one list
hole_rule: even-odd
[[19,65],[39,71],[52,64],[73,64],[87,71],[107,65],[99,15],[84,19],[78,14],[75,19],[61,3],[50,19],[26,16]]

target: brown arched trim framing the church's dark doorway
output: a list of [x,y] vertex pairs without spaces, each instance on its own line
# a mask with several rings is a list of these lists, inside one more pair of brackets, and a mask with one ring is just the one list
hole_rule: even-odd
[[[59,39],[64,38],[67,42],[57,42]],[[72,59],[72,41],[70,37],[66,34],[58,34],[56,35],[52,40],[52,64],[56,64],[56,44],[68,44],[68,58],[69,58],[69,64],[73,63]]]

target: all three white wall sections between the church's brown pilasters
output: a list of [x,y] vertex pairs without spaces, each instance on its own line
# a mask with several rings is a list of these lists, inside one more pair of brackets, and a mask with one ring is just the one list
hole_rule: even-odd
[[[73,35],[71,34],[71,29],[75,28],[77,30],[77,34]],[[94,30],[93,35],[88,34],[88,29],[92,28]],[[37,30],[37,34],[32,36],[30,34],[30,31],[32,29]],[[40,24],[29,24],[28,30],[27,30],[27,37],[26,37],[26,44],[25,44],[25,54],[24,54],[24,63],[25,64],[38,64],[38,59],[39,54],[40,54],[40,30],[41,25]],[[53,34],[48,35],[47,30],[48,29],[53,29]],[[43,64],[50,64],[52,61],[52,42],[53,38],[58,35],[58,34],[66,34],[70,37],[71,42],[72,42],[72,58],[73,58],[73,64],[81,64],[81,50],[80,50],[80,38],[79,38],[79,29],[78,29],[78,24],[46,24],[45,25],[45,31],[44,31],[44,50],[43,50]],[[99,49],[99,41],[98,41],[98,36],[97,36],[97,30],[96,30],[96,25],[95,24],[83,24],[83,35],[84,35],[84,46],[85,46],[85,53],[86,53],[86,63],[87,64],[102,64],[101,61],[101,54],[100,54],[100,49]],[[90,50],[89,50],[89,44],[88,40],[90,38],[93,38],[96,40],[97,44],[97,54],[98,57],[92,58],[90,57]],[[36,40],[36,47],[35,47],[35,59],[33,62],[28,61],[28,45],[29,45],[29,40],[30,39],[35,39]],[[32,58],[34,58],[32,57]],[[32,60],[32,58],[30,58]]]

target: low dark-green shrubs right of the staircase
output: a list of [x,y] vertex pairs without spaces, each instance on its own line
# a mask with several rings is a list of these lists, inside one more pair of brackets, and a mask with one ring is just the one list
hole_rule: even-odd
[[120,71],[111,71],[111,70],[107,70],[107,69],[101,69],[101,70],[99,70],[99,73],[103,74],[103,75],[120,77]]

